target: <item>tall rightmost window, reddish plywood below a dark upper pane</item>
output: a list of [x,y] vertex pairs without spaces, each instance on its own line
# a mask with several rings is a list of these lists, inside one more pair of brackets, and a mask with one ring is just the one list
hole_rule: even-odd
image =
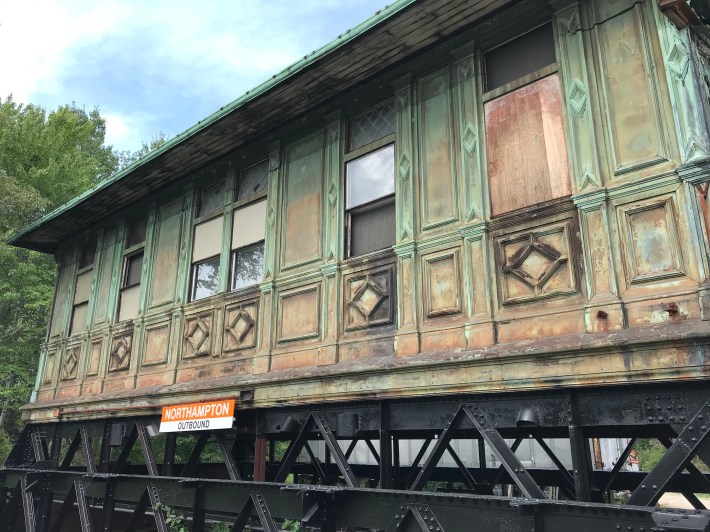
[[494,215],[571,193],[552,25],[488,50],[483,95]]

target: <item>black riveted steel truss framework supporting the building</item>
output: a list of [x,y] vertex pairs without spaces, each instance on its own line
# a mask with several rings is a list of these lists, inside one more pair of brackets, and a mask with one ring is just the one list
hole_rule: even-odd
[[[158,435],[151,416],[28,425],[0,470],[0,530],[710,531],[707,384],[240,407],[231,430],[177,436]],[[590,452],[602,437],[629,440],[609,471]],[[547,438],[567,439],[570,456]],[[625,471],[648,438],[663,458]],[[424,444],[404,465],[399,442],[411,439]],[[515,451],[526,439],[554,467],[525,467]],[[477,442],[477,465],[456,440]],[[358,442],[377,465],[353,460]],[[604,502],[619,491],[627,504]],[[665,492],[695,509],[656,508]]]

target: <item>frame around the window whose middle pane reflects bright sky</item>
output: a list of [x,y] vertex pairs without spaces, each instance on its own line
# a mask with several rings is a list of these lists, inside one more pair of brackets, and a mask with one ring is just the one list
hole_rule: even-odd
[[[349,259],[357,259],[358,257],[364,257],[366,255],[369,255],[371,253],[378,253],[383,250],[386,250],[388,248],[382,248],[379,250],[373,250],[369,251],[367,253],[364,253],[362,255],[353,255],[352,254],[352,217],[353,213],[357,213],[358,211],[366,211],[370,210],[373,206],[376,206],[378,203],[388,203],[389,201],[396,201],[396,154],[397,154],[397,147],[396,147],[396,122],[393,124],[393,131],[392,133],[389,133],[379,139],[373,140],[372,142],[369,142],[367,144],[364,144],[363,146],[360,146],[358,148],[355,148],[354,150],[348,151],[348,148],[350,146],[350,140],[351,140],[351,126],[350,123],[353,119],[366,115],[368,113],[371,113],[373,110],[377,109],[378,107],[382,107],[384,105],[394,105],[394,98],[387,98],[385,100],[382,100],[375,105],[371,105],[367,109],[360,111],[358,113],[352,114],[350,117],[347,118],[346,122],[346,130],[347,130],[347,135],[345,136],[345,143],[344,143],[344,153],[342,156],[342,172],[343,172],[343,191],[344,191],[344,202],[343,202],[343,212],[344,212],[344,227],[345,227],[345,260]],[[379,196],[377,198],[374,198],[366,203],[361,203],[360,205],[356,205],[354,207],[348,207],[348,164],[357,160],[361,159],[363,157],[366,157],[372,153],[375,153],[379,150],[382,150],[384,148],[387,148],[389,146],[392,146],[394,149],[394,160],[393,160],[393,165],[392,165],[392,179],[394,181],[394,191],[391,194],[386,194],[384,196]],[[395,206],[396,209],[396,206]],[[396,234],[396,227],[392,228],[392,233]],[[396,236],[395,236],[396,240]]]

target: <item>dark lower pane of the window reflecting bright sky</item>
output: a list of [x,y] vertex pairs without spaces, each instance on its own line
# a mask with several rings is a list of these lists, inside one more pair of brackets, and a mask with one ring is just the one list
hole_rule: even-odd
[[391,247],[394,241],[394,198],[350,213],[351,257]]

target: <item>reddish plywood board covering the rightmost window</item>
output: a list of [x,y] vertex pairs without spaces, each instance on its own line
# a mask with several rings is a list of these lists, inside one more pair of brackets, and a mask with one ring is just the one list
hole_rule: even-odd
[[557,74],[491,100],[485,113],[493,214],[571,193]]

